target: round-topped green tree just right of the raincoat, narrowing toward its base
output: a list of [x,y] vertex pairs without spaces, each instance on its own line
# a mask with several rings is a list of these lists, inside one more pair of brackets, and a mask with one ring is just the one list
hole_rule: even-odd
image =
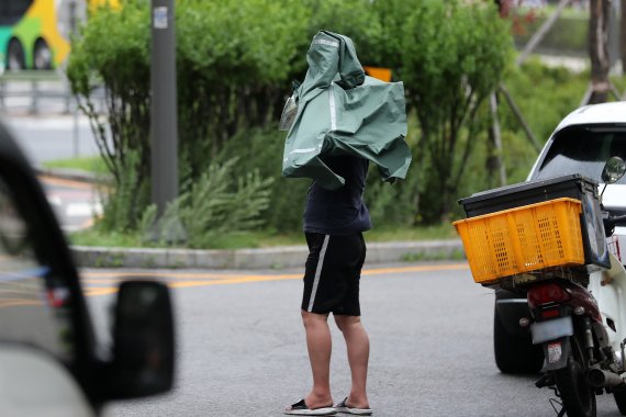
[[406,19],[402,72],[422,134],[416,162],[429,158],[427,201],[445,221],[483,128],[479,110],[510,63],[512,38],[493,3],[426,0]]

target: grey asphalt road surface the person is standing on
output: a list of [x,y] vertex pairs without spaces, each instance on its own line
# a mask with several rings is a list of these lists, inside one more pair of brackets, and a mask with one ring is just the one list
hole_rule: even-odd
[[[121,275],[122,274],[122,275]],[[83,271],[102,339],[116,281],[134,271]],[[301,271],[143,271],[169,282],[177,308],[178,376],[172,393],[115,403],[108,415],[281,416],[310,387],[300,320]],[[466,263],[366,268],[362,319],[370,334],[375,415],[554,416],[551,391],[507,376],[492,353],[490,290]],[[333,329],[336,402],[349,390],[340,334]],[[600,416],[618,416],[612,396]]]

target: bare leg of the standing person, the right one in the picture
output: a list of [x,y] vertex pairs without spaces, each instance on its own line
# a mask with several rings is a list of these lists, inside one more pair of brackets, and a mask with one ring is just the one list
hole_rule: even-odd
[[367,398],[367,369],[369,362],[369,337],[360,317],[335,316],[335,323],[346,339],[348,363],[353,387],[347,404],[357,408],[369,408]]

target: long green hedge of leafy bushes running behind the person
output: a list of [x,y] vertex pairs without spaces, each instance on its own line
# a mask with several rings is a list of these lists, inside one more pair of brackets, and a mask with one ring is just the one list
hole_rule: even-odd
[[[148,3],[127,0],[121,11],[96,13],[74,41],[68,67],[102,143],[107,129],[113,136],[114,146],[103,151],[118,182],[107,212],[110,229],[136,230],[149,206]],[[394,185],[382,183],[373,170],[368,177],[366,198],[376,225],[438,223],[446,212],[458,215],[459,196],[493,185],[484,100],[501,80],[540,140],[585,88],[582,78],[536,63],[513,70],[508,23],[492,2],[186,0],[177,2],[176,18],[181,190],[210,184],[206,172],[226,164],[235,178],[225,195],[256,193],[242,199],[250,202],[254,216],[241,217],[250,228],[300,228],[309,181],[280,178],[284,134],[276,125],[291,81],[304,76],[306,50],[318,30],[350,36],[364,65],[390,67],[404,81],[414,164],[406,181]],[[89,101],[94,83],[107,91],[104,115]],[[507,174],[510,181],[522,180],[535,150],[501,109]],[[236,168],[227,165],[233,157]],[[246,182],[245,172],[258,173]],[[266,201],[259,211],[258,202]]]

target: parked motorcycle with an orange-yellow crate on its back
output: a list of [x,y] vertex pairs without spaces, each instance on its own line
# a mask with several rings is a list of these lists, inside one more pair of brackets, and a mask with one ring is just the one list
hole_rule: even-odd
[[[624,160],[610,158],[602,172],[604,187],[615,183],[625,172]],[[508,187],[491,190],[487,196],[482,193],[463,199],[468,218],[455,222],[455,226],[461,235],[474,281],[496,291],[526,294],[529,315],[522,316],[518,325],[529,329],[533,345],[543,350],[541,376],[535,385],[552,388],[561,398],[559,416],[567,413],[570,417],[594,417],[595,396],[603,393],[613,394],[619,412],[626,415],[626,270],[606,249],[606,238],[616,226],[626,225],[626,215],[604,210],[595,182],[580,178],[577,181],[583,185],[592,183],[588,187],[591,191],[578,190],[575,195],[569,195],[574,188],[563,191],[562,181],[544,181],[536,187]],[[563,193],[568,194],[564,199]],[[530,194],[548,200],[516,207],[515,195],[528,200]],[[493,202],[500,206],[490,210],[488,205]],[[544,211],[536,214],[538,210]],[[577,210],[582,212],[578,218],[572,214],[578,213]],[[552,217],[546,217],[548,212]],[[534,222],[530,226],[529,216]],[[485,222],[490,223],[485,226]],[[570,244],[563,237],[569,233],[563,225],[572,222],[580,223],[581,234]],[[540,229],[536,240],[517,235],[533,227]],[[533,250],[548,245],[546,241],[554,236],[558,241],[549,244],[548,249],[557,252],[557,259],[549,264],[550,255],[537,255]],[[578,244],[580,240],[582,245]],[[582,258],[580,253],[573,261],[560,258],[561,252],[575,252],[579,246],[584,251]],[[485,258],[489,251],[494,256]],[[503,261],[508,252],[526,258]],[[507,266],[501,267],[502,263]]]

